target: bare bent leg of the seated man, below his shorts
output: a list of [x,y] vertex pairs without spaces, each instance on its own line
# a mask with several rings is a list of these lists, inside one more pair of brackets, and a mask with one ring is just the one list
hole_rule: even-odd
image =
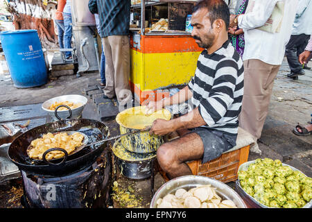
[[191,175],[187,160],[198,160],[204,154],[204,144],[196,133],[189,133],[159,146],[157,160],[169,178]]

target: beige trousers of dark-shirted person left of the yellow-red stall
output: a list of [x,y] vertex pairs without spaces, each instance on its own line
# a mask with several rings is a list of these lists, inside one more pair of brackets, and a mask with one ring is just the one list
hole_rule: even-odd
[[130,43],[127,35],[111,35],[102,38],[105,53],[104,94],[112,99],[115,95],[121,105],[132,99],[129,86]]

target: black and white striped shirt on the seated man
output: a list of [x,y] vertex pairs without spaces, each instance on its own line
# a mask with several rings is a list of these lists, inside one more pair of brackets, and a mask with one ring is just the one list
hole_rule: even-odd
[[204,127],[237,136],[243,76],[243,61],[229,40],[211,55],[206,49],[200,53],[189,89],[193,92],[191,101],[194,107],[198,107],[207,123]]

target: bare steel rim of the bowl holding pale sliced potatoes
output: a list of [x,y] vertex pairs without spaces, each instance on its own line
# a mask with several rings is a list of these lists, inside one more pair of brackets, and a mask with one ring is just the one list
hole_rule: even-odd
[[183,188],[188,191],[198,185],[211,185],[212,187],[216,187],[216,194],[218,194],[220,198],[232,200],[239,208],[247,208],[239,194],[237,194],[231,187],[225,185],[225,183],[205,176],[194,175],[180,176],[166,182],[156,191],[152,201],[150,201],[150,208],[156,208],[156,202],[159,198],[164,198],[167,194],[175,194],[177,189]]

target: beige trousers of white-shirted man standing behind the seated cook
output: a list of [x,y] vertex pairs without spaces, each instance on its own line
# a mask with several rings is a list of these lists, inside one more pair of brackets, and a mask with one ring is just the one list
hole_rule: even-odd
[[268,114],[274,78],[280,65],[269,65],[261,60],[245,60],[243,65],[244,94],[239,126],[257,141]]

